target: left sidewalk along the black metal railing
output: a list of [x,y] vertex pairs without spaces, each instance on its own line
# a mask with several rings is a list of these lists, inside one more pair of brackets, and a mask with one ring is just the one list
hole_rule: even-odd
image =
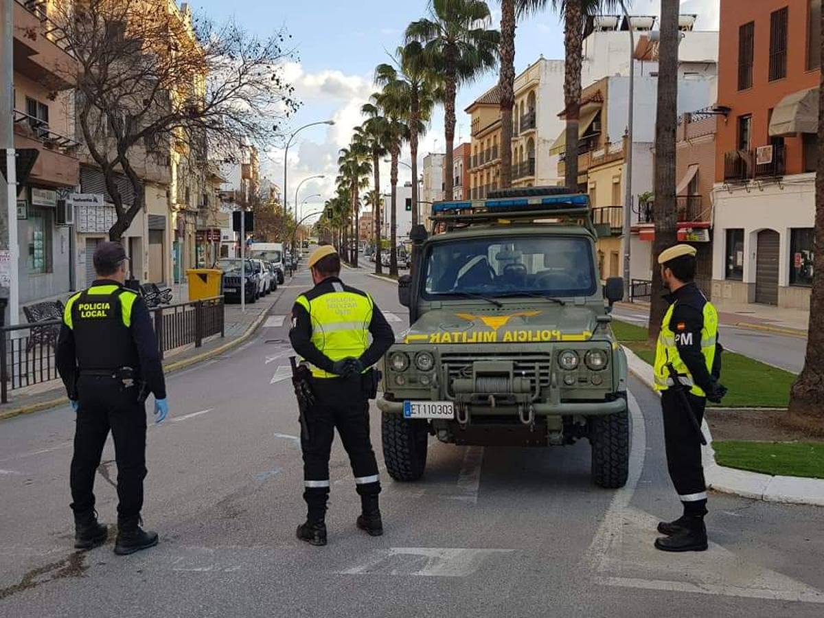
[[[241,311],[240,305],[226,305],[224,313],[224,336],[205,339],[201,347],[194,345],[166,353],[163,359],[163,368],[166,373],[179,371],[195,363],[213,358],[227,350],[233,349],[249,339],[266,319],[269,309],[274,306],[283,290],[268,297],[261,298],[254,304],[246,305],[246,313]],[[68,402],[63,382],[52,380],[35,386],[28,386],[9,392],[9,402],[0,405],[0,419],[9,419],[18,414],[28,414],[38,410],[46,410],[56,405]]]

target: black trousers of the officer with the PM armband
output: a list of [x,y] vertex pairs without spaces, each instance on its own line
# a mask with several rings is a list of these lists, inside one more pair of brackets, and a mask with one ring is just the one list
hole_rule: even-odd
[[706,399],[690,393],[687,393],[687,399],[692,410],[684,410],[681,396],[674,388],[661,393],[667,469],[685,509],[690,510],[691,503],[694,503],[695,514],[703,515],[707,487],[704,466],[701,465],[701,442],[687,414],[694,414],[700,426],[704,419]]

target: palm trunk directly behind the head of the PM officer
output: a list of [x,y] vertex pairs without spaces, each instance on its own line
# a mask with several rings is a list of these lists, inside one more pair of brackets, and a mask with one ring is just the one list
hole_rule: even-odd
[[[661,43],[658,48],[658,112],[655,122],[655,242],[654,263],[662,250],[678,240],[675,208],[675,132],[678,105],[678,0],[661,2]],[[567,150],[569,152],[569,149]],[[569,157],[567,157],[569,160]],[[649,308],[649,340],[658,339],[667,302],[662,296],[661,269],[653,268]]]

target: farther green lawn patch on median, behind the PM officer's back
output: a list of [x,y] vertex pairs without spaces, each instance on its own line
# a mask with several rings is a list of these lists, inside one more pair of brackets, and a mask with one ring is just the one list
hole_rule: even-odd
[[[647,329],[613,321],[612,331],[618,340],[653,364],[655,349],[647,343]],[[786,408],[789,388],[795,376],[783,369],[765,365],[741,354],[724,352],[721,383],[729,389],[721,405],[730,408]]]

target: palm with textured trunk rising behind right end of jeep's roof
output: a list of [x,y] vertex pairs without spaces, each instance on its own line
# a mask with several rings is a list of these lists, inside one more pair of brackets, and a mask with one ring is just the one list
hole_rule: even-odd
[[[630,4],[630,2],[627,3]],[[531,9],[535,9],[537,5],[542,5],[544,2],[523,0],[522,4],[532,5]],[[553,9],[564,14],[564,119],[566,120],[564,184],[571,190],[578,187],[578,119],[581,114],[583,17],[608,12],[618,6],[620,6],[620,0],[552,0]]]

